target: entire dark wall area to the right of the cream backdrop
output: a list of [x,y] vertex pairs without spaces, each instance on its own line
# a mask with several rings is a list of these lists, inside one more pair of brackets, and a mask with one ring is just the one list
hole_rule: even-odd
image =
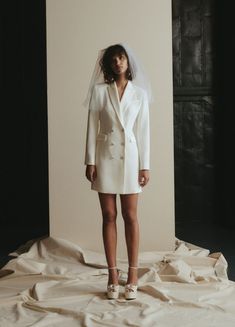
[[231,3],[173,0],[176,236],[222,252],[235,279]]

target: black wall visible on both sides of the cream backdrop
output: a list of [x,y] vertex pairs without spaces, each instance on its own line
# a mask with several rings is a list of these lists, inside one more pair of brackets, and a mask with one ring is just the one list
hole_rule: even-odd
[[[172,0],[176,236],[235,279],[232,2]],[[45,0],[1,4],[1,260],[49,233]],[[160,45],[159,45],[160,46]]]

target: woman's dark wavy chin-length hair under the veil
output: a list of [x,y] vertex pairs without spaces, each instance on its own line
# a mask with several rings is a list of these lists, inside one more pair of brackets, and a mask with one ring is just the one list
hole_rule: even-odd
[[99,62],[101,70],[104,74],[105,83],[110,84],[117,79],[117,74],[115,74],[111,68],[111,62],[112,62],[112,58],[114,56],[122,55],[122,54],[124,54],[127,57],[127,62],[128,62],[126,78],[129,79],[130,81],[132,81],[133,76],[131,73],[130,62],[129,62],[129,57],[127,55],[127,52],[122,45],[114,44],[105,50],[105,52]]

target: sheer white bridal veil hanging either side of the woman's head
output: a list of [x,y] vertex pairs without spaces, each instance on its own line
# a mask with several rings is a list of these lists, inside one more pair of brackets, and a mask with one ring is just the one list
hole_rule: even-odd
[[[149,82],[149,79],[147,77],[147,74],[144,71],[144,68],[140,62],[140,60],[137,58],[135,55],[134,51],[128,46],[126,43],[118,43],[121,46],[124,47],[124,49],[127,52],[128,58],[129,58],[129,64],[130,64],[130,70],[132,73],[132,83],[135,84],[136,86],[141,87],[144,89],[147,93],[148,101],[149,103],[153,102],[153,95],[152,95],[152,89],[151,89],[151,84]],[[95,63],[95,67],[91,76],[90,84],[88,87],[88,92],[85,101],[83,102],[83,105],[85,107],[88,107],[91,99],[91,94],[94,88],[95,84],[98,83],[104,83],[104,76],[103,72],[100,67],[100,60],[104,55],[106,48],[99,50],[98,52],[98,57]]]

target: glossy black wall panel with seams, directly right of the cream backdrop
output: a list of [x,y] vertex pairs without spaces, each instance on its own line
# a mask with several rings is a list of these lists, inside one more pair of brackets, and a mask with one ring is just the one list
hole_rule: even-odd
[[214,6],[174,0],[174,153],[177,221],[214,215]]

